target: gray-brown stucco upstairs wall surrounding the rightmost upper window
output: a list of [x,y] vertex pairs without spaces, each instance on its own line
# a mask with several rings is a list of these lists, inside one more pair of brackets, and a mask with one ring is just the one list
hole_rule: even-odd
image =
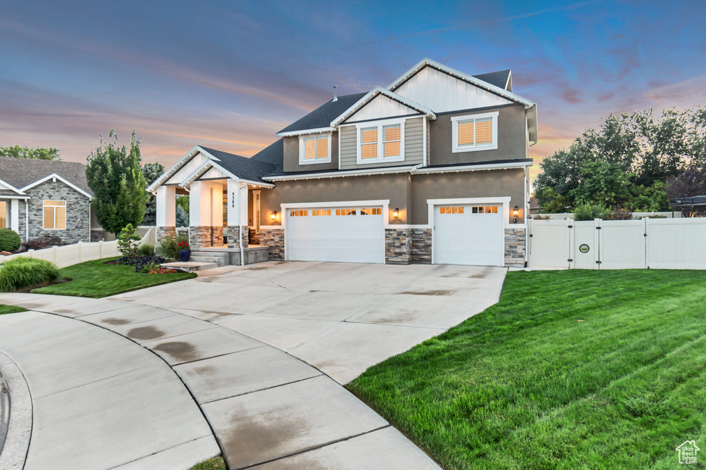
[[[493,111],[498,111],[498,148],[454,153],[451,118]],[[429,165],[525,159],[528,151],[526,127],[525,106],[522,104],[441,114],[429,122]]]

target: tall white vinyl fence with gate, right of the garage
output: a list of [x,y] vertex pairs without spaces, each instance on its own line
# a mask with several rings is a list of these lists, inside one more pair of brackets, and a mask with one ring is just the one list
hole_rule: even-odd
[[706,218],[528,223],[530,267],[706,269]]

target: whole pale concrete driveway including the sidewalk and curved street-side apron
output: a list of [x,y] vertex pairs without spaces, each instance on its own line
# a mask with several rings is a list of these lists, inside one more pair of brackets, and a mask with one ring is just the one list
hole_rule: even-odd
[[0,316],[32,395],[25,468],[188,468],[215,437],[231,470],[438,469],[340,384],[497,302],[504,276],[268,262],[109,299],[0,294],[33,310]]

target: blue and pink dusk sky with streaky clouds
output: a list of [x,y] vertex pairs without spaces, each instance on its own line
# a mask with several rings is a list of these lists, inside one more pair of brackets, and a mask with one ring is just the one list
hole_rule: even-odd
[[[429,57],[512,69],[536,101],[535,159],[611,111],[706,104],[706,1],[6,1],[0,147],[85,163],[133,128],[143,161],[195,144],[251,156],[339,94]],[[534,173],[538,168],[535,161]]]

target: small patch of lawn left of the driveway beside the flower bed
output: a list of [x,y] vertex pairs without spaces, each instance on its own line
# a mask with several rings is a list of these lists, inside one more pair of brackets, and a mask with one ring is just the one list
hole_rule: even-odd
[[133,266],[105,264],[118,258],[97,259],[59,269],[59,276],[68,283],[49,285],[32,290],[35,294],[74,295],[76,297],[107,297],[177,280],[196,278],[196,273],[143,274]]

